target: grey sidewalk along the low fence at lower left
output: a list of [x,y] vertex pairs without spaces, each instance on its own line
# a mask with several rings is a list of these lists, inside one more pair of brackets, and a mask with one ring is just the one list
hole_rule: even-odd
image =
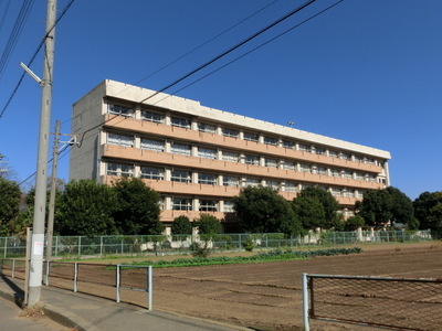
[[[23,298],[23,280],[0,275],[0,298],[17,302]],[[250,330],[155,310],[148,311],[55,287],[42,286],[41,299],[49,318],[78,331]]]

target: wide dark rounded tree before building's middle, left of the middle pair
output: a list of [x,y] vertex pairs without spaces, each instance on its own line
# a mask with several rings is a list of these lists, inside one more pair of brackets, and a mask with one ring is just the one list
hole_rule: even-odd
[[246,232],[282,232],[287,236],[303,232],[291,204],[271,188],[242,189],[240,194],[233,197],[233,209]]

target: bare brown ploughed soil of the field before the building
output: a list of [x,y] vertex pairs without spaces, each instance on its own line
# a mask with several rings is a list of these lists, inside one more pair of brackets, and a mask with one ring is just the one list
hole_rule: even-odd
[[[155,269],[154,309],[255,330],[302,330],[303,273],[442,278],[441,242],[372,244],[362,249],[361,254],[308,260]],[[113,289],[108,289],[113,298]],[[80,290],[94,291],[86,284]],[[104,296],[103,287],[99,295]],[[122,300],[146,306],[146,297],[125,291]],[[312,321],[312,329],[371,330],[325,321]]]

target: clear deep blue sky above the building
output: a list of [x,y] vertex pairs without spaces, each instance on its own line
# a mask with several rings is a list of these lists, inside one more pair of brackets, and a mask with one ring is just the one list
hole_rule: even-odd
[[[22,2],[0,0],[0,52]],[[166,93],[175,94],[335,2],[317,0]],[[67,3],[59,0],[59,12]],[[56,25],[51,131],[60,119],[69,134],[73,103],[103,79],[161,89],[302,3],[74,1]],[[22,73],[19,63],[29,63],[44,35],[45,15],[46,1],[34,1],[0,76],[0,114]],[[39,76],[41,53],[31,65]],[[442,1],[346,0],[176,94],[390,151],[391,184],[415,199],[442,190],[441,88]],[[19,182],[36,169],[40,103],[40,86],[25,76],[0,118],[0,153]],[[59,177],[69,179],[69,154],[60,160]],[[32,186],[34,178],[24,184]]]

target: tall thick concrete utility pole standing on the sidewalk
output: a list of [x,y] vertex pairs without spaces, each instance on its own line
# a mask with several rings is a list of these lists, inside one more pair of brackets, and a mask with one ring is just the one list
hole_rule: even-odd
[[51,121],[52,77],[54,63],[56,0],[48,0],[46,34],[43,54],[42,98],[40,110],[39,152],[36,162],[35,204],[31,244],[28,306],[40,301],[43,278],[44,218],[46,212],[46,181],[49,125]]

